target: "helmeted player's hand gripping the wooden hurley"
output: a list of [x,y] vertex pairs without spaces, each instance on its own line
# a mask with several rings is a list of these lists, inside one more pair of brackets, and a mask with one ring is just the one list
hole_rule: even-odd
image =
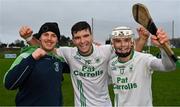
[[167,33],[164,32],[163,29],[161,29],[161,28],[158,29],[156,35],[157,36],[155,36],[155,35],[151,36],[151,42],[153,43],[153,45],[155,45],[157,47],[161,47],[161,44],[170,43]]

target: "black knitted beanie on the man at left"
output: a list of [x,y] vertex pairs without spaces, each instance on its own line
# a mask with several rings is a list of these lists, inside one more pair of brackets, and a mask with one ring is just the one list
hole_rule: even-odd
[[51,31],[53,33],[56,34],[58,40],[60,40],[60,31],[59,31],[59,27],[58,24],[56,22],[47,22],[44,23],[41,28],[39,29],[39,33],[38,33],[38,37],[37,39],[40,38],[40,36],[42,35],[42,33]]

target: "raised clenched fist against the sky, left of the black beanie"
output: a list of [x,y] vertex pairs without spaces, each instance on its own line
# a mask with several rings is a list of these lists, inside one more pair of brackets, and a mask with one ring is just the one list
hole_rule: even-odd
[[22,38],[26,39],[32,35],[33,31],[28,26],[22,26],[19,30],[19,34]]

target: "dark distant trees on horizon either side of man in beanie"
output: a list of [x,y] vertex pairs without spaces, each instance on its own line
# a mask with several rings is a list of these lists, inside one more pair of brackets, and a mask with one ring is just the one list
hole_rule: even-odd
[[[72,40],[69,37],[61,35],[61,40],[58,42],[59,46],[72,46]],[[25,41],[15,40],[14,42],[7,44],[0,41],[0,48],[22,48],[26,46]]]

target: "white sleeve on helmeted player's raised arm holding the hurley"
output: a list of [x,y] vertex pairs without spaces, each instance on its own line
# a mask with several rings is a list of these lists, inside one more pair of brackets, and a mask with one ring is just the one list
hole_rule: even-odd
[[162,59],[153,59],[150,63],[150,67],[153,70],[158,71],[172,71],[176,69],[176,64],[168,57],[168,55],[164,52],[163,49],[161,50]]

